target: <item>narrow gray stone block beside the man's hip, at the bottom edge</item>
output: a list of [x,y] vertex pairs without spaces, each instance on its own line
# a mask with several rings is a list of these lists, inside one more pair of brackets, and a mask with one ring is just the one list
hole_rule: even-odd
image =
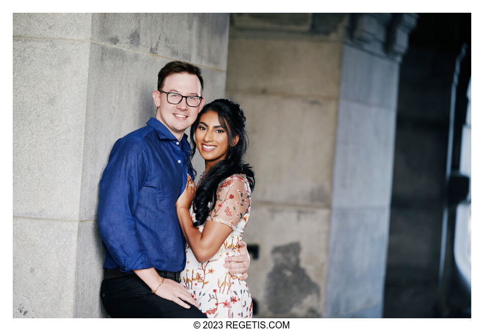
[[101,234],[96,221],[78,225],[73,317],[107,317],[99,296],[105,254]]

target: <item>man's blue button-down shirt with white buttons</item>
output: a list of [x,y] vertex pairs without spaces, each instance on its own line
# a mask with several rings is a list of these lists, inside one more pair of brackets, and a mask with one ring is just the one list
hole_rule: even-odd
[[105,268],[122,271],[185,267],[185,241],[175,203],[186,174],[193,178],[190,144],[158,120],[119,139],[99,183],[98,223]]

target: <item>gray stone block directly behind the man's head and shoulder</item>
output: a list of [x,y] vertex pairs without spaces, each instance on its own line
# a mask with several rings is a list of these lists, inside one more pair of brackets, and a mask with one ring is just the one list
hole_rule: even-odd
[[[112,46],[91,46],[80,219],[97,219],[99,180],[116,140],[155,116],[152,93],[167,62]],[[203,68],[202,75],[206,102],[223,97],[225,73]],[[203,161],[198,157],[194,163],[200,174]]]

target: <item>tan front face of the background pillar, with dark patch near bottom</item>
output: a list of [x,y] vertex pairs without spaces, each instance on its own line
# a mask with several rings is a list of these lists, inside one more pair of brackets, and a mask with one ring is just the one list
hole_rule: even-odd
[[347,17],[311,33],[312,14],[292,15],[231,16],[227,96],[245,110],[256,174],[245,239],[259,247],[248,279],[258,317],[322,317],[325,299]]

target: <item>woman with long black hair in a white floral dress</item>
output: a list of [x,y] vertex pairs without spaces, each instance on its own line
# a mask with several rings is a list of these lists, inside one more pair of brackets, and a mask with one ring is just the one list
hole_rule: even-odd
[[250,318],[249,287],[240,274],[223,267],[227,256],[238,255],[254,188],[254,172],[242,162],[248,144],[244,112],[233,101],[214,100],[198,115],[190,139],[192,157],[196,146],[205,159],[205,172],[198,189],[188,178],[176,203],[187,241],[181,283],[208,317]]

